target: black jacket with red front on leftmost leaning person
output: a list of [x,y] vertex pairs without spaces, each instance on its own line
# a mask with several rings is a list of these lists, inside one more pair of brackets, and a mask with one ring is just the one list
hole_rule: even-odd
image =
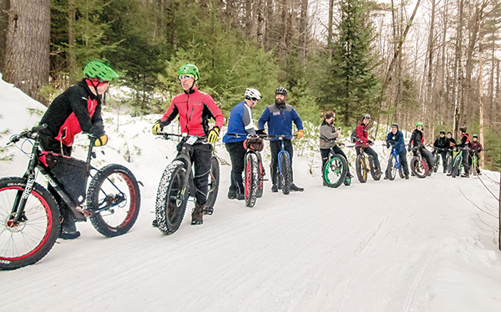
[[71,146],[75,135],[80,132],[103,135],[101,96],[94,95],[87,80],[83,79],[53,100],[40,120],[40,124],[43,123],[47,128],[41,130],[41,135],[66,146]]

